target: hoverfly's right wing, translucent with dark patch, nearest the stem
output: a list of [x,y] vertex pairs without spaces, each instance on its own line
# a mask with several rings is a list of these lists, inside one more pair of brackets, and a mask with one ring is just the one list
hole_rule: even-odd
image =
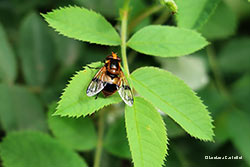
[[121,96],[122,100],[129,106],[132,106],[134,103],[133,94],[131,88],[129,87],[128,81],[125,78],[123,72],[121,72],[121,82],[118,86],[118,93]]

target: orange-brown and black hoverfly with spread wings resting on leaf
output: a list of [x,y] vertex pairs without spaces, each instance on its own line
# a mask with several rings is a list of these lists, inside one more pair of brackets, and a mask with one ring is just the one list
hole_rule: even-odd
[[[121,69],[121,59],[113,53],[106,57],[104,66],[96,73],[87,88],[87,96],[97,95],[102,91],[105,97],[118,90],[122,100],[129,106],[134,103],[131,88]],[[97,97],[96,96],[96,97]]]

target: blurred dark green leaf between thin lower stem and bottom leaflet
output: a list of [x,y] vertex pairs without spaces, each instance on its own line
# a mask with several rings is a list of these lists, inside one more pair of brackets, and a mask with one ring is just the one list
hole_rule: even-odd
[[126,137],[124,117],[118,119],[108,128],[104,140],[104,148],[109,153],[122,158],[131,158],[128,140]]

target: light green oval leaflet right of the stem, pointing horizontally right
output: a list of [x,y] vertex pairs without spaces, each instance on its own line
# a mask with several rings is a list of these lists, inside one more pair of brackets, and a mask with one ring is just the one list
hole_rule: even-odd
[[142,28],[128,41],[138,52],[162,57],[184,56],[206,45],[206,39],[195,31],[159,25]]

